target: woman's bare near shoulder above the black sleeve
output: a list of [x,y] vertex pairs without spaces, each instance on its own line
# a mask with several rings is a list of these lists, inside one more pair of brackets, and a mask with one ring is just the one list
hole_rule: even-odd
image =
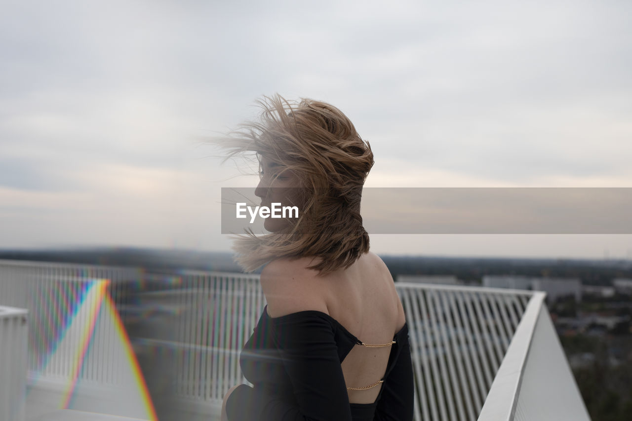
[[261,272],[261,288],[268,303],[270,317],[304,310],[328,313],[322,295],[322,278],[308,269],[312,259],[277,259]]

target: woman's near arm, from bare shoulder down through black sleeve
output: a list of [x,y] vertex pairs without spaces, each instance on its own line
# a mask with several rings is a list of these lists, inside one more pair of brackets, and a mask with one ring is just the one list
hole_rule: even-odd
[[271,318],[267,334],[283,359],[293,396],[241,387],[227,408],[236,420],[243,413],[249,415],[244,420],[253,421],[351,421],[334,327],[320,298],[319,281],[304,263],[301,267],[287,260],[274,261],[264,268],[261,285]]

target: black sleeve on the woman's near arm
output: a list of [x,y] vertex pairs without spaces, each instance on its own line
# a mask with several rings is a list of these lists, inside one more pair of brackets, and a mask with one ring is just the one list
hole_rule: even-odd
[[229,421],[351,421],[334,333],[324,315],[272,320],[274,342],[288,375],[289,396],[241,385],[229,397]]

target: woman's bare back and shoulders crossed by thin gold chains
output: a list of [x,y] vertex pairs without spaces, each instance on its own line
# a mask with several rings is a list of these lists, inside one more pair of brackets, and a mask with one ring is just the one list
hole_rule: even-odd
[[[331,315],[363,343],[389,343],[403,327],[404,311],[390,272],[374,253],[365,253],[348,269],[317,276],[311,259],[276,260],[262,272],[270,316],[302,310]],[[391,346],[356,345],[342,363],[347,387],[365,387],[382,379]],[[351,403],[372,403],[380,386],[348,390]]]

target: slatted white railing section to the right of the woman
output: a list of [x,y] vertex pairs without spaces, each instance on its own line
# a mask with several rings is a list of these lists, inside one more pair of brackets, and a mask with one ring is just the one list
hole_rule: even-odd
[[396,287],[410,325],[415,420],[476,420],[532,293]]

